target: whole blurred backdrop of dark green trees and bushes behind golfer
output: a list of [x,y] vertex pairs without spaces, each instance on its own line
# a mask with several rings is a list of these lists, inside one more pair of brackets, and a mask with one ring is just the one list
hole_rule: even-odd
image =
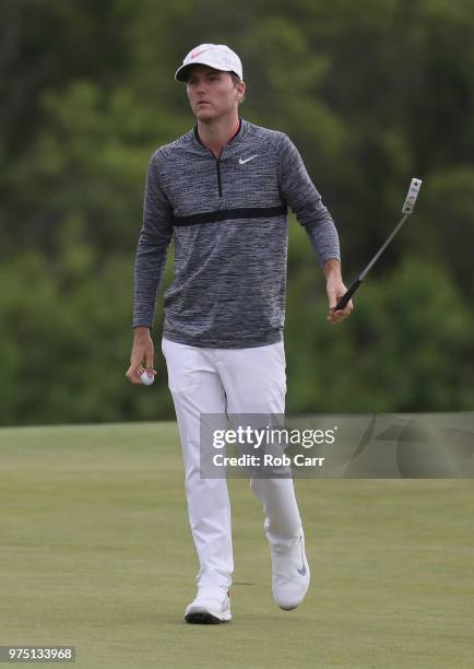
[[337,223],[346,282],[395,224],[411,177],[424,179],[416,215],[336,328],[291,222],[288,410],[472,409],[471,0],[0,10],[0,424],[174,415],[162,309],[158,380],[132,387],[125,372],[147,160],[193,124],[174,72],[203,42],[241,54],[241,115],[298,145]]

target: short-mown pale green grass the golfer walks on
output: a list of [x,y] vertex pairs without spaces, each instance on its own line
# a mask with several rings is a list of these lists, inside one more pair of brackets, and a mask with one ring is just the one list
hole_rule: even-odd
[[97,669],[474,666],[472,480],[297,480],[312,584],[292,612],[230,480],[234,620],[215,626],[182,619],[182,480],[174,423],[0,430],[0,645],[70,644]]

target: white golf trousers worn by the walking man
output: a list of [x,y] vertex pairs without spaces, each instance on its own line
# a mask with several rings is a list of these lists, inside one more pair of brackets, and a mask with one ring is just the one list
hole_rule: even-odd
[[[285,412],[283,341],[248,349],[203,349],[162,342],[185,460],[189,523],[199,558],[198,586],[230,586],[234,572],[227,481],[200,476],[201,413]],[[292,545],[301,520],[292,479],[250,479],[272,544]]]

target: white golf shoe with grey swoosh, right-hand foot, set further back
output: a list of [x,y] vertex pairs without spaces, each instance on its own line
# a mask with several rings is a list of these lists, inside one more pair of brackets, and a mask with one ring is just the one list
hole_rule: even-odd
[[272,554],[272,592],[281,609],[296,609],[309,588],[309,564],[305,553],[305,535],[292,548],[270,544]]

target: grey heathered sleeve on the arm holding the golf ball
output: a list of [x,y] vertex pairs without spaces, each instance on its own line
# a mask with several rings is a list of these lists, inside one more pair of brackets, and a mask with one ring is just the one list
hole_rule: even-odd
[[173,210],[159,184],[156,155],[146,175],[143,225],[137,247],[133,291],[133,327],[152,327],[156,295],[165,270],[173,235]]

